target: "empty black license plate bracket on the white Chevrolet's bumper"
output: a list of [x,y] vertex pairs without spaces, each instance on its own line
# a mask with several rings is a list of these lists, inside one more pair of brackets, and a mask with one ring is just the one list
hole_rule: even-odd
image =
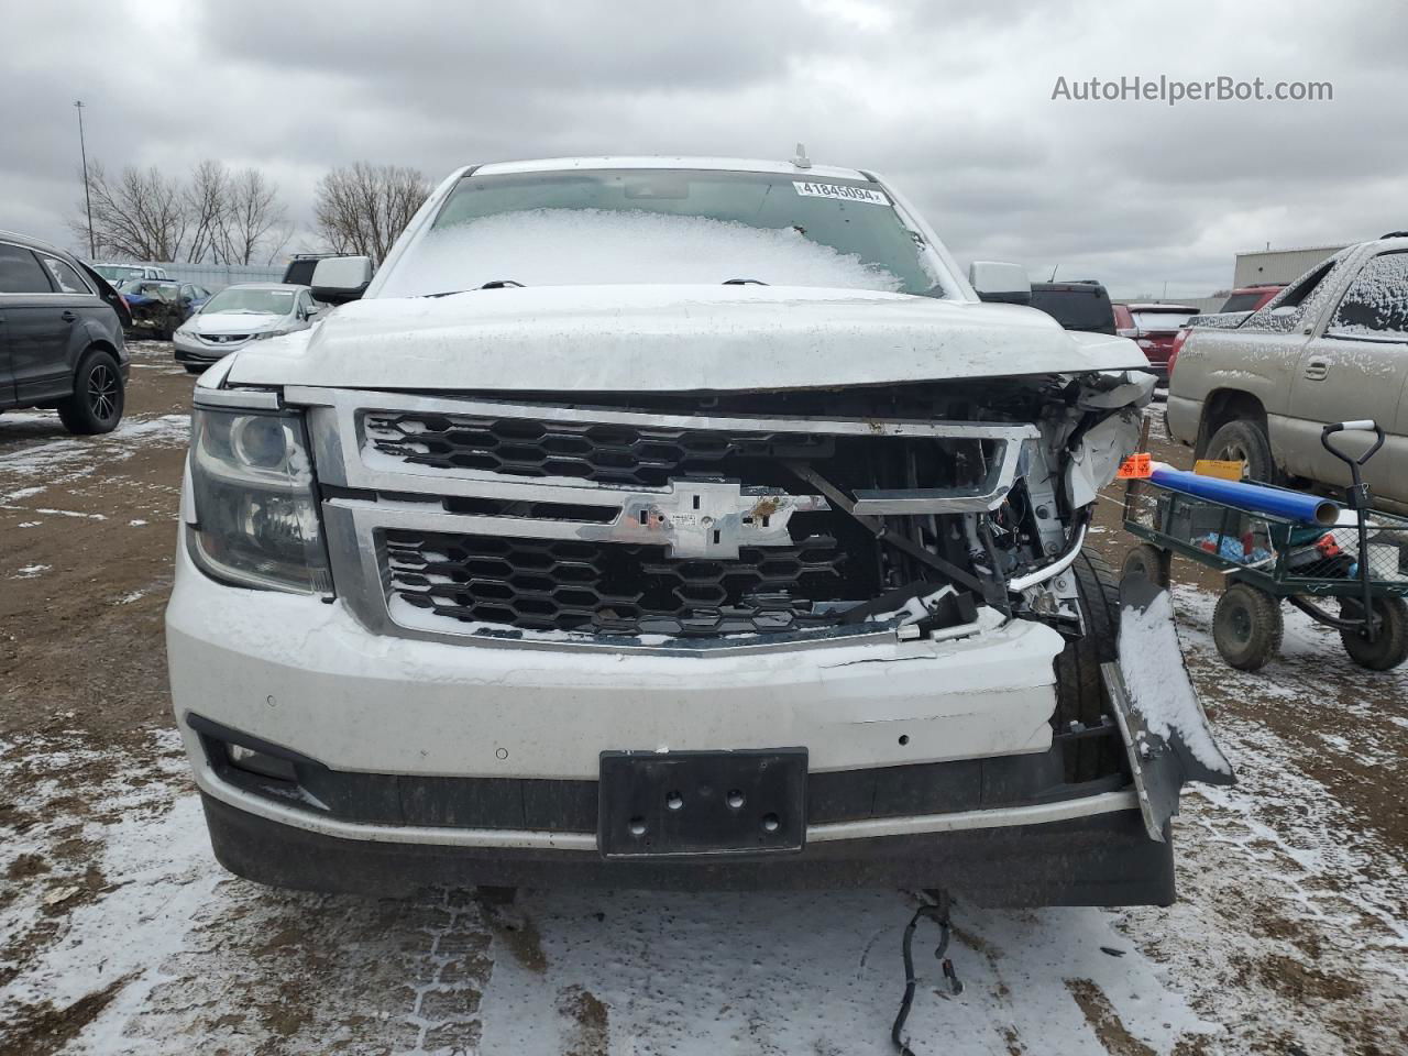
[[807,749],[603,752],[603,857],[797,853],[807,842]]

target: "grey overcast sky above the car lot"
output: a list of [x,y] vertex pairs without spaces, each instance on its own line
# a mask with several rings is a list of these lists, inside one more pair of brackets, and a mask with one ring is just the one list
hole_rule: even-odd
[[[0,228],[76,248],[90,159],[263,169],[313,248],[358,159],[705,153],[876,169],[957,259],[1208,294],[1239,249],[1408,228],[1408,4],[0,0]],[[1052,100],[1121,76],[1322,103]]]

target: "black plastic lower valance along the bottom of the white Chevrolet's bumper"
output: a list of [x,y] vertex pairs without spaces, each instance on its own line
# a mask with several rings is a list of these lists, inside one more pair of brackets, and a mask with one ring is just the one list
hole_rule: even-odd
[[215,857],[258,883],[394,895],[428,884],[776,890],[949,887],[979,905],[1170,905],[1173,845],[1138,811],[1069,821],[814,842],[728,862],[607,862],[590,850],[384,843],[306,832],[203,793]]

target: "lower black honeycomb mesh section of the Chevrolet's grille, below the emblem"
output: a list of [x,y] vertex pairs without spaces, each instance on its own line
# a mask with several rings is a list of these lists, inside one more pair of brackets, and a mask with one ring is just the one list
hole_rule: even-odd
[[743,546],[736,560],[663,546],[386,531],[387,590],[425,612],[525,631],[712,636],[835,622],[817,601],[872,596],[828,535]]

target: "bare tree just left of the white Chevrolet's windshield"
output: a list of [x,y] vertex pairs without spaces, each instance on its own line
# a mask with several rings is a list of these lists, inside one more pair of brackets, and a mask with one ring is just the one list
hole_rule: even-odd
[[417,169],[356,162],[318,180],[314,222],[334,252],[382,260],[429,193]]

